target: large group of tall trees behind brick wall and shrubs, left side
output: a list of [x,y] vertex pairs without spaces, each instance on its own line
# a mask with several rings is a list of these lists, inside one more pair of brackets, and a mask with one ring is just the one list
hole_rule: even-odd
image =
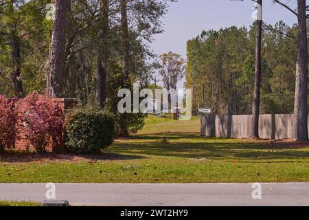
[[144,115],[118,115],[117,91],[149,84],[149,43],[172,1],[1,0],[0,94],[80,98],[115,113],[119,135],[135,132]]

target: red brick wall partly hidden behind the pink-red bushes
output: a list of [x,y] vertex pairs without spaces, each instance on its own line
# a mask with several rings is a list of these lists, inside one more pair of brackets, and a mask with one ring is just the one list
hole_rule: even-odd
[[[74,107],[78,100],[73,98],[54,98],[54,102],[57,102],[62,109],[62,111],[67,111],[68,109],[71,109]],[[22,112],[27,111],[26,104],[23,102],[23,100],[19,101],[19,115]],[[16,124],[17,129],[19,131],[19,138],[15,140],[15,146],[14,149],[16,151],[34,151],[33,146],[27,141],[25,138],[25,135],[23,134],[23,131],[21,129],[22,124]],[[63,134],[64,135],[64,134]],[[52,140],[47,146],[47,151],[49,152],[55,152],[55,153],[62,153],[65,151],[65,146],[62,146],[60,148],[52,148]]]

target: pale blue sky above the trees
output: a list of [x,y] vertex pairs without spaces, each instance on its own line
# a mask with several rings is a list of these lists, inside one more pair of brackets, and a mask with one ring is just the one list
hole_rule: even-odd
[[[289,2],[291,8],[296,8],[297,0],[282,2]],[[252,13],[251,0],[179,0],[170,5],[168,14],[162,19],[164,32],[155,36],[152,49],[156,54],[172,51],[185,58],[187,40],[201,34],[202,30],[219,30],[232,25],[249,27],[253,23]],[[293,13],[273,0],[264,0],[263,20],[271,24],[280,20],[288,25],[297,22]],[[183,87],[183,80],[178,87]]]

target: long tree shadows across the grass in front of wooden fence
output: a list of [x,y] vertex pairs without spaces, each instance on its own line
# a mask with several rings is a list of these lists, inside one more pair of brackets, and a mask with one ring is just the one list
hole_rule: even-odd
[[[253,140],[214,139],[209,142],[205,137],[196,134],[165,134],[169,143],[158,142],[162,136],[145,135],[137,136],[129,142],[121,142],[113,145],[114,153],[137,153],[139,155],[155,155],[168,157],[184,157],[192,159],[249,159],[255,162],[290,159],[308,159],[309,148],[304,145],[301,148],[293,146],[276,146],[268,142],[255,142]],[[194,142],[192,142],[194,139]],[[200,141],[201,139],[201,141]],[[136,140],[136,142],[135,142]],[[147,142],[139,142],[147,140]],[[179,140],[174,142],[175,140]],[[188,142],[186,141],[188,140]],[[190,142],[190,141],[191,142]]]

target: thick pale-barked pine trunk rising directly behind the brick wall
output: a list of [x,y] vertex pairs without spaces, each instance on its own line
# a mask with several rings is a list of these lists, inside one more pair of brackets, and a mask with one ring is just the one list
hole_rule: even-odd
[[47,61],[47,92],[49,96],[62,95],[62,81],[65,71],[65,30],[67,0],[53,0],[55,19],[52,22],[52,36]]

